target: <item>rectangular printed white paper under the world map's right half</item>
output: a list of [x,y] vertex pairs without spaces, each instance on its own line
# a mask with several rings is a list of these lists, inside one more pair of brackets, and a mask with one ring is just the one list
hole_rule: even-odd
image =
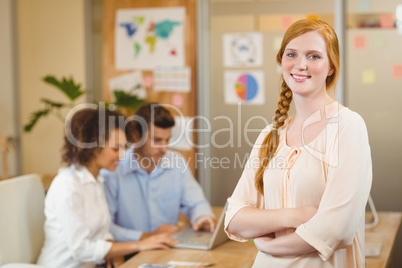
[[154,90],[190,92],[190,67],[157,67],[154,70]]

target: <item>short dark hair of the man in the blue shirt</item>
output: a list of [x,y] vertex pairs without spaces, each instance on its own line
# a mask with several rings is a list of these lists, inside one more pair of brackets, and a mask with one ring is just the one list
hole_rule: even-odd
[[[145,130],[149,129],[150,123],[160,128],[171,128],[175,124],[172,114],[165,107],[156,102],[142,105],[137,109],[135,115],[145,120],[147,124]],[[145,132],[143,124],[136,120],[134,122],[134,128],[142,138]]]

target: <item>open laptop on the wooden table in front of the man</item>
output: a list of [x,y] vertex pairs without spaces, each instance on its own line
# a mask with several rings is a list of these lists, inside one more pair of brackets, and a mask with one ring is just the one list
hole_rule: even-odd
[[227,206],[228,203],[226,202],[213,233],[209,231],[194,231],[193,228],[188,227],[171,235],[172,238],[179,241],[174,247],[211,250],[229,240],[224,231],[224,219]]

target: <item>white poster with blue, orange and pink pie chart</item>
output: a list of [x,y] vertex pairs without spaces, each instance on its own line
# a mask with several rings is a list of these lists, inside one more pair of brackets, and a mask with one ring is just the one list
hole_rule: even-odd
[[225,71],[225,104],[265,104],[264,72]]

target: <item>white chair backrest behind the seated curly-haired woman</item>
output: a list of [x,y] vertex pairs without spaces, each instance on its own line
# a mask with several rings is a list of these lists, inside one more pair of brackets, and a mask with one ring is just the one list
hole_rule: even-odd
[[36,262],[44,242],[44,200],[36,174],[0,181],[0,266]]

